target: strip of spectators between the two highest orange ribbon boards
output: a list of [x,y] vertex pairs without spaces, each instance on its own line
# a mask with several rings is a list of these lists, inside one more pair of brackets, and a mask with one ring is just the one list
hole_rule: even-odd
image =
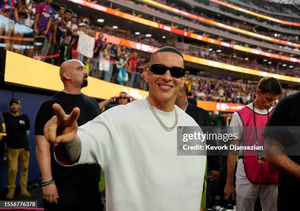
[[[230,21],[230,20],[220,19],[220,18],[216,18],[216,17],[211,17],[211,16],[208,16],[207,14],[205,14],[203,12],[196,11],[196,9],[194,9],[194,8],[192,8],[192,9],[185,8],[182,5],[176,4],[172,0],[168,0],[167,5],[172,6],[176,9],[183,10],[185,12],[192,13],[194,15],[198,15],[202,18],[210,19],[210,20],[225,24],[227,26],[233,26],[233,27],[240,28],[240,29],[243,29],[243,30],[247,30],[247,31],[250,31],[250,32],[254,32],[254,33],[257,33],[257,34],[274,37],[276,39],[287,40],[287,41],[294,42],[294,43],[297,42],[297,39],[296,39],[295,36],[287,36],[287,35],[283,35],[283,34],[280,34],[278,32],[274,32],[274,31],[271,32],[271,31],[266,31],[266,30],[260,30],[260,29],[255,28],[255,26],[250,26],[249,24],[246,24],[245,22],[241,23],[241,22],[238,22],[238,21]],[[201,24],[201,22],[198,22],[198,21],[195,21],[195,20],[193,22]]]

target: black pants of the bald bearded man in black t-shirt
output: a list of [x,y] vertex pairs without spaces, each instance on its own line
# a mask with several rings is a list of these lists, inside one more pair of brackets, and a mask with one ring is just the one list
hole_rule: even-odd
[[57,205],[43,201],[45,211],[102,211],[103,205],[98,183],[56,185]]

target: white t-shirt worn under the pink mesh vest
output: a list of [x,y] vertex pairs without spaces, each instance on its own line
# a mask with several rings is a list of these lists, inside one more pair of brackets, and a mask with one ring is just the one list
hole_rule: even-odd
[[[251,110],[253,110],[253,103],[248,104],[247,107],[249,107]],[[272,111],[272,109],[273,109],[273,107],[271,107],[269,109],[269,113]],[[258,109],[255,107],[254,107],[254,111],[255,111],[255,113],[259,113],[259,114],[267,114],[268,113],[267,109]],[[239,134],[238,138],[240,139],[241,136],[243,135],[244,124],[243,124],[243,121],[237,111],[234,112],[232,115],[230,126],[235,126],[235,128],[234,128],[234,130],[236,130],[235,133],[238,131],[238,134]],[[240,143],[240,145],[243,145],[243,144]],[[239,155],[242,155],[242,151],[239,152]],[[251,184],[251,182],[248,180],[248,178],[246,176],[243,159],[238,160],[235,177],[236,177],[235,185]]]

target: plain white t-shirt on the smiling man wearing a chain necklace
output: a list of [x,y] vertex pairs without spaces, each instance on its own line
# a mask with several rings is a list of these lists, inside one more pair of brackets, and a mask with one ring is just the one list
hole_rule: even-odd
[[[178,106],[178,126],[198,126]],[[171,127],[175,110],[154,108]],[[165,131],[146,99],[108,109],[79,127],[78,163],[100,163],[107,211],[199,211],[206,156],[177,156],[177,129]]]

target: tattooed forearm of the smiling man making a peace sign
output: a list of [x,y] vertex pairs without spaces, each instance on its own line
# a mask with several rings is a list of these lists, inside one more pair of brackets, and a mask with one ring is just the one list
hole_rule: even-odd
[[74,163],[81,153],[81,141],[76,136],[74,141],[67,144],[58,144],[53,147],[56,158],[67,163]]

